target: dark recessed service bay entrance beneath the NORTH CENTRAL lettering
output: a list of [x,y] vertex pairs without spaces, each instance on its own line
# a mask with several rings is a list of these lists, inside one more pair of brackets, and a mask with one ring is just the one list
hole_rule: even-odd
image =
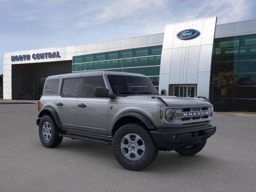
[[48,76],[72,72],[72,62],[47,62],[12,65],[12,99],[38,100]]

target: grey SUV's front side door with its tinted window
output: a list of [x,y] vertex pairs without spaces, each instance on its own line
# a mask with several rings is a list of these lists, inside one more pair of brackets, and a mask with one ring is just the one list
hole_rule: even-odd
[[110,98],[94,97],[95,87],[105,87],[102,76],[83,78],[82,97],[76,103],[76,129],[107,136]]

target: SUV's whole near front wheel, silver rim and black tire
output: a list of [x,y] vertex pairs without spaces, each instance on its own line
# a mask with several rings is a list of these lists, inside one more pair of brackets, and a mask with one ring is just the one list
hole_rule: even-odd
[[112,148],[118,163],[128,170],[138,171],[150,165],[158,147],[141,124],[126,124],[114,134]]

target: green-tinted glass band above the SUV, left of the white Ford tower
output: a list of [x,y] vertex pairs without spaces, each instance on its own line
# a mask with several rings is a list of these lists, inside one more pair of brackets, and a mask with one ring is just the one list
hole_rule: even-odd
[[72,72],[90,70],[144,74],[158,89],[162,45],[74,56]]

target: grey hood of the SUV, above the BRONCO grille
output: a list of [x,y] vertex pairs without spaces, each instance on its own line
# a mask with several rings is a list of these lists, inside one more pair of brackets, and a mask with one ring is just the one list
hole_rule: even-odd
[[168,106],[198,106],[198,105],[211,105],[210,102],[201,98],[187,98],[187,97],[176,97],[176,96],[164,96],[164,95],[134,95],[128,97],[137,97],[140,99],[148,99],[151,97],[160,97],[162,98]]

